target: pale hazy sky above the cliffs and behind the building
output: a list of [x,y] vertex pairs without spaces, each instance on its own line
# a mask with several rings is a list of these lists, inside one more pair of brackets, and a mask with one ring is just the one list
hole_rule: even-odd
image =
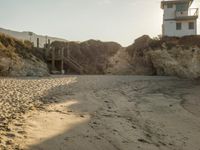
[[[0,0],[0,27],[75,41],[116,41],[126,46],[143,34],[161,34],[160,1]],[[194,7],[200,7],[200,1],[195,1]]]

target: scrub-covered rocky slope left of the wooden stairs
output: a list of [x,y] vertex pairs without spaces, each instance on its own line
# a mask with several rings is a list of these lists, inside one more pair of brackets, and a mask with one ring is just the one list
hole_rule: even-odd
[[47,65],[34,55],[31,43],[0,34],[1,76],[44,76]]

